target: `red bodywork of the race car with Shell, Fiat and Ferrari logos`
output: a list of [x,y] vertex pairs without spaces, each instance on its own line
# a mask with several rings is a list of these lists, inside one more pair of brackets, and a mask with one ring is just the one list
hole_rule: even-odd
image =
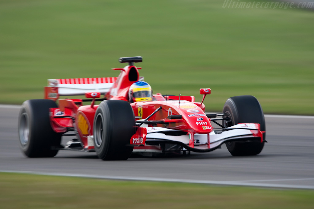
[[[113,78],[115,82],[110,90],[105,94],[105,99],[129,101],[129,87],[139,80],[138,69],[134,65],[127,65],[124,68],[114,68],[120,70],[120,75]],[[51,94],[54,93],[54,94]],[[201,89],[201,94],[210,94],[210,89]],[[51,95],[53,97],[51,97]],[[69,130],[76,131],[81,140],[84,149],[92,149],[93,146],[88,143],[88,136],[93,135],[93,123],[95,111],[98,105],[94,105],[95,98],[100,96],[99,92],[86,93],[87,98],[93,98],[91,105],[83,106],[82,99],[59,99],[59,107],[50,109],[51,126],[55,132],[65,133]],[[45,87],[45,98],[57,100],[59,97],[57,87]],[[202,101],[203,102],[203,101]],[[149,120],[163,121],[161,124],[149,124],[148,126],[163,127],[185,131],[190,134],[188,146],[193,148],[193,135],[195,133],[208,134],[213,130],[210,119],[206,117],[205,106],[201,102],[194,102],[193,96],[165,96],[154,94],[153,101],[130,103],[137,120],[145,119],[157,108],[161,110],[154,114]],[[181,115],[181,118],[169,119],[168,116]],[[144,145],[146,129],[138,128],[136,134],[130,139],[130,144]],[[150,147],[150,146],[148,146]],[[139,147],[138,149],[145,149]]]

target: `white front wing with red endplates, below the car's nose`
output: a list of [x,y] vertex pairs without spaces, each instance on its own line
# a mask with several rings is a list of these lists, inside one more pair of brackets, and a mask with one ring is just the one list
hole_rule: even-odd
[[[210,152],[220,147],[220,145],[238,141],[263,142],[263,132],[260,124],[239,123],[237,125],[212,131],[208,134],[187,134],[187,130],[174,130],[161,127],[139,127],[130,140],[130,144],[135,146],[134,151],[149,152],[149,145],[152,144],[178,144],[183,148],[193,152]],[[176,134],[181,132],[181,134]],[[141,147],[142,146],[142,147]]]

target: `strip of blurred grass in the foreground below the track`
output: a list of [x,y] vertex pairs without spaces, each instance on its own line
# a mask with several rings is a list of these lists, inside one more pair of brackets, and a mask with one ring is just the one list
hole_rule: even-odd
[[313,208],[312,190],[0,173],[0,208]]

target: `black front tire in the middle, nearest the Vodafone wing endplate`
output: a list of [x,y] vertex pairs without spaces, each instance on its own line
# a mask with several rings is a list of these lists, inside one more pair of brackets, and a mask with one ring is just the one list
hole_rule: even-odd
[[133,147],[130,139],[135,134],[135,117],[128,102],[105,100],[97,107],[94,118],[94,144],[100,159],[126,160]]

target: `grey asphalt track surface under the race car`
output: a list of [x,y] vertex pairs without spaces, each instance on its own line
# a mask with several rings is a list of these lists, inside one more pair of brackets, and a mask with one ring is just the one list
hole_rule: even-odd
[[266,115],[268,143],[256,156],[234,157],[223,145],[187,156],[102,161],[95,153],[65,150],[54,158],[25,157],[18,145],[18,112],[19,106],[0,105],[0,171],[314,189],[313,116]]

